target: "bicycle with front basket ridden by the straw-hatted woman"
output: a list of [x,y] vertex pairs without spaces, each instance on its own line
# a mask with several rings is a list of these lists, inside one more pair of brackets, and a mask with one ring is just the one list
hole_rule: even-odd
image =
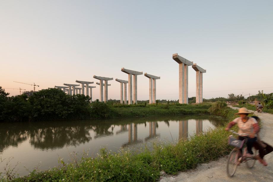
[[[233,130],[229,130],[230,132],[237,134],[238,136],[242,136],[242,135],[246,135],[246,136],[242,136],[245,139],[244,140],[239,140],[234,138],[232,135],[230,135],[228,138],[228,145],[231,145],[233,147],[235,147],[230,154],[228,155],[228,162],[227,162],[227,174],[228,177],[232,177],[236,170],[237,167],[241,164],[241,163],[246,163],[248,168],[252,168],[256,162],[255,156],[256,156],[256,150],[255,148],[253,148],[253,156],[252,157],[247,157],[247,147],[246,147],[246,143],[247,143],[247,136],[249,134],[243,133],[243,134],[239,134]],[[242,149],[242,153],[241,153],[241,149]]]

